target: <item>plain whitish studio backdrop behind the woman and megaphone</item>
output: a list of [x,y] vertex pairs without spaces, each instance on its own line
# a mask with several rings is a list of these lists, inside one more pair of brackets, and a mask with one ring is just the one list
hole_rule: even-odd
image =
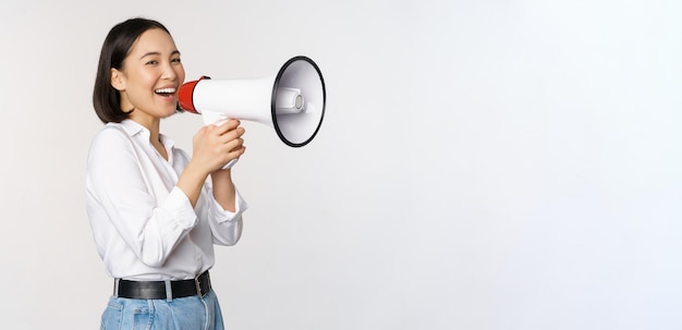
[[[92,86],[138,15],[187,80],[326,80],[308,146],[244,122],[229,329],[682,328],[677,0],[3,1],[0,328],[99,327]],[[161,129],[191,151],[200,125]]]

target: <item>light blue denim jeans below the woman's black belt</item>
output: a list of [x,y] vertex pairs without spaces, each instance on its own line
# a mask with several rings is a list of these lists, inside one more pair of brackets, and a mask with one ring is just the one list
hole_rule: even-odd
[[223,330],[218,297],[167,300],[110,297],[101,316],[102,330]]

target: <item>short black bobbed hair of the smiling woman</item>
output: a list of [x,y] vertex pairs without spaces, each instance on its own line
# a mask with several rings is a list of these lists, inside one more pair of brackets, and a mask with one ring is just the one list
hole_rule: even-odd
[[127,57],[133,44],[148,29],[160,28],[170,35],[163,24],[148,19],[135,17],[114,25],[101,47],[95,88],[93,91],[93,106],[99,120],[103,123],[120,123],[127,119],[131,111],[121,109],[121,94],[111,86],[111,69],[121,70],[123,60]]

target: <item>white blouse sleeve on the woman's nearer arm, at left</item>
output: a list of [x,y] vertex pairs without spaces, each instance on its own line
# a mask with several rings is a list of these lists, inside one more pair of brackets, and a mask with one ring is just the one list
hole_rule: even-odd
[[159,267],[197,216],[179,188],[154,188],[155,167],[145,167],[139,156],[125,132],[105,130],[89,154],[87,191],[98,206],[92,212],[106,219],[143,264]]

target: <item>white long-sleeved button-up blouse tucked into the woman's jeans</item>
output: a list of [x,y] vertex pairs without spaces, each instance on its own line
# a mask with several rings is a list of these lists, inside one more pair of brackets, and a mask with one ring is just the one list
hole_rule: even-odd
[[215,264],[214,244],[234,245],[247,208],[236,193],[235,212],[214,198],[210,179],[192,208],[175,186],[190,157],[161,135],[168,161],[132,120],[108,123],[94,137],[87,160],[86,207],[97,252],[112,278],[138,281],[192,279]]

